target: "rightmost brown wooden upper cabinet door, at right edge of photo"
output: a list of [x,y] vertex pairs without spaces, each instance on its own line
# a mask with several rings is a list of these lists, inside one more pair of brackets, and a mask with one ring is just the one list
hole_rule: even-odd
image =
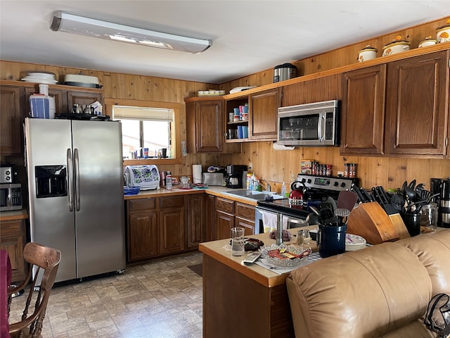
[[387,154],[443,157],[449,51],[406,58],[387,68]]

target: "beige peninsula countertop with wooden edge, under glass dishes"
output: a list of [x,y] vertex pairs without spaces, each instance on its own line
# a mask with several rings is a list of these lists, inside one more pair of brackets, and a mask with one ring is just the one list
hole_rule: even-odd
[[[305,227],[304,229],[316,229],[317,225],[311,225],[309,227]],[[298,229],[290,229],[288,230],[292,234],[296,234]],[[271,244],[276,244],[275,239],[270,239],[269,234],[253,234],[251,236],[252,238],[260,239],[262,242],[264,242],[264,245],[270,246]],[[293,244],[295,241],[295,237],[292,237],[293,240],[291,242],[285,242],[285,244]],[[256,282],[259,282],[259,284],[264,285],[265,287],[275,287],[276,285],[284,284],[286,278],[288,277],[288,273],[285,273],[283,275],[278,275],[277,273],[272,272],[271,270],[268,270],[266,268],[263,268],[262,266],[252,264],[252,265],[245,265],[242,261],[247,256],[249,252],[246,252],[244,256],[242,257],[235,257],[231,256],[231,251],[226,251],[224,249],[224,246],[226,244],[229,244],[230,239],[220,239],[218,241],[212,241],[212,242],[205,242],[200,243],[198,246],[198,249],[202,251],[205,255],[208,255],[217,261],[228,265],[230,268],[238,271],[239,273],[242,273],[243,275],[246,275],[247,277],[251,278],[252,280],[255,280]],[[316,251],[317,246],[316,242],[311,241],[311,249],[313,251]]]

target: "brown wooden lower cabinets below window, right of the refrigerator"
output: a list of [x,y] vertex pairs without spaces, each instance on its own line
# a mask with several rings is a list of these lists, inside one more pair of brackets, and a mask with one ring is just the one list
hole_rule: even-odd
[[127,261],[197,249],[205,219],[205,194],[127,200]]

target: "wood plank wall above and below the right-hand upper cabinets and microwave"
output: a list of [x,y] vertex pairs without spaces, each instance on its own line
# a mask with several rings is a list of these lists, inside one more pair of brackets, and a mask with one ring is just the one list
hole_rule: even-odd
[[[437,27],[444,25],[447,20],[448,18],[442,18],[316,56],[298,61],[286,60],[286,62],[296,65],[300,75],[309,75],[356,63],[359,50],[368,44],[378,49],[379,57],[383,54],[383,46],[395,39],[397,35],[411,41],[411,49],[417,48],[425,37],[435,38]],[[273,82],[273,76],[273,69],[264,70],[222,84],[221,89],[229,91],[234,87],[270,84]],[[314,96],[312,93],[311,95]],[[302,159],[315,159],[319,163],[332,164],[333,175],[337,175],[338,170],[344,170],[344,163],[357,163],[357,177],[360,179],[361,186],[366,188],[378,185],[383,185],[385,188],[397,188],[405,180],[410,182],[416,179],[418,182],[427,184],[426,187],[429,189],[430,178],[450,177],[450,160],[445,159],[340,156],[337,148],[303,147],[293,151],[275,151],[272,149],[271,142],[246,143],[243,144],[241,154],[222,157],[228,157],[229,163],[248,165],[251,162],[255,173],[269,182],[274,182],[272,186],[275,186],[278,191],[281,190],[281,182],[285,181],[288,184],[292,175],[296,176],[299,173]]]

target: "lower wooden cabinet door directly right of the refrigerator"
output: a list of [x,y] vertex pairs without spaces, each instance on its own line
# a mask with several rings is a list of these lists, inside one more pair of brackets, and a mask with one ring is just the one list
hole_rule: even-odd
[[158,255],[158,223],[156,211],[132,213],[128,219],[128,260],[135,261]]

